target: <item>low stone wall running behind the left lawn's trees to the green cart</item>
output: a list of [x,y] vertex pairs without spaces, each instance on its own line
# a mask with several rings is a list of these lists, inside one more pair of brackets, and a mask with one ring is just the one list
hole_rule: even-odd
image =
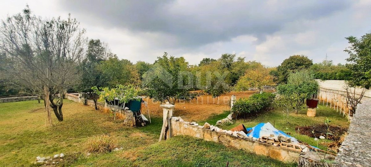
[[[75,102],[78,102],[78,103],[82,103],[82,104],[84,102],[84,98],[80,98],[78,94],[66,94],[65,98],[69,99],[69,100],[72,100],[72,101],[75,101]],[[92,108],[95,108],[94,101],[86,100],[86,103],[87,103],[88,106],[90,106]],[[99,110],[104,111],[104,112],[110,112],[109,108],[111,106],[108,105],[107,103],[97,102],[96,105],[97,105]],[[126,125],[126,126],[130,126],[130,127],[135,126],[134,113],[130,110],[121,109],[120,111],[116,112],[116,117],[118,119],[124,119],[123,124]]]

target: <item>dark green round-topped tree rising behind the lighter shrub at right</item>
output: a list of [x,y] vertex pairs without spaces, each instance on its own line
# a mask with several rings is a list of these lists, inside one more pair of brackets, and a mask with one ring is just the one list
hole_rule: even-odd
[[281,65],[277,67],[278,81],[280,83],[286,83],[289,73],[307,69],[313,65],[313,61],[308,59],[307,56],[304,55],[293,55],[290,56],[288,59],[283,60]]

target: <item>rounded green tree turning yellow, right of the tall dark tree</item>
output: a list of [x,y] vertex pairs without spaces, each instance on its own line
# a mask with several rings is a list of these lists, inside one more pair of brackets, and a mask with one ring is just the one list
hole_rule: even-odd
[[139,74],[135,66],[126,59],[119,60],[112,56],[99,65],[99,70],[108,78],[108,85],[140,85]]

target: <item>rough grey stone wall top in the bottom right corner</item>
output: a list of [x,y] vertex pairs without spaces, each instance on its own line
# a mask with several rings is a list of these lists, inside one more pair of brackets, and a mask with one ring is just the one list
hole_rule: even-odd
[[371,99],[366,98],[357,107],[348,136],[339,148],[334,167],[369,167],[371,162]]

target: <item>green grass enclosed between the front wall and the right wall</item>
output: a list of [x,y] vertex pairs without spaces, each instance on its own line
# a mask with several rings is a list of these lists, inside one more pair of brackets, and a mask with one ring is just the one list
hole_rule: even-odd
[[[246,119],[237,119],[234,121],[234,124],[230,125],[220,125],[218,127],[229,130],[237,125],[244,124],[245,127],[253,127],[260,122],[270,122],[272,125],[275,125],[275,128],[278,130],[284,131],[290,134],[292,137],[295,137],[299,141],[308,143],[313,146],[317,146],[317,142],[314,141],[314,138],[308,137],[307,135],[298,134],[295,131],[296,126],[304,126],[304,125],[313,125],[313,124],[322,124],[324,120],[329,118],[331,120],[331,125],[337,125],[340,127],[348,128],[349,122],[348,119],[343,117],[342,114],[339,115],[339,112],[336,112],[334,109],[327,108],[326,105],[318,105],[316,111],[316,117],[311,118],[306,116],[306,109],[302,109],[298,112],[298,114],[292,113],[290,114],[290,124],[286,124],[285,118],[283,117],[282,111],[280,109],[273,109],[270,111],[266,111],[262,114],[257,116],[251,116],[250,118]],[[215,125],[216,121],[222,118],[226,118],[229,112],[224,112],[223,114],[213,115],[206,122],[209,122],[212,125]],[[215,121],[216,120],[216,121]],[[204,121],[205,122],[205,121]],[[320,143],[318,145],[319,148],[324,149],[325,147],[322,146]]]

